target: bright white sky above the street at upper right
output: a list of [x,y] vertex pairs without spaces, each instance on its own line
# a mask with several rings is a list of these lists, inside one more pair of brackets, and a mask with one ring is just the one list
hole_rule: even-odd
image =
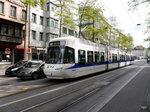
[[129,10],[129,0],[99,0],[104,5],[104,16],[109,18],[115,17],[118,25],[123,33],[130,33],[134,39],[134,45],[142,45],[148,47],[148,43],[144,42],[147,35],[145,31],[145,19],[150,7],[141,4],[136,10]]

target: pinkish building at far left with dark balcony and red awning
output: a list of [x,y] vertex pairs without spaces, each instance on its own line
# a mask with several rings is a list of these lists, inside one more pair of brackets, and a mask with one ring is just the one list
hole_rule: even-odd
[[0,64],[24,59],[26,8],[20,0],[0,0]]

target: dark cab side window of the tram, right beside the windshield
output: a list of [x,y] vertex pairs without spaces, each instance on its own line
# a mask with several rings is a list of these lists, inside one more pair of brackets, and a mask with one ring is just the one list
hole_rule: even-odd
[[75,53],[74,49],[70,47],[65,48],[65,54],[64,54],[64,61],[63,63],[65,64],[71,64],[75,63]]

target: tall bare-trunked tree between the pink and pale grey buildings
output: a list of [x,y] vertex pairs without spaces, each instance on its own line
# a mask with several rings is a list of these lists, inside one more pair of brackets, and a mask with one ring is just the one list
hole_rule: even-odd
[[27,57],[27,49],[28,49],[28,46],[26,45],[27,44],[27,21],[29,20],[28,17],[28,13],[29,13],[29,8],[30,6],[32,7],[35,7],[36,5],[43,5],[45,4],[45,0],[22,0],[23,3],[25,4],[26,6],[26,17],[25,17],[25,32],[24,32],[24,60],[27,60],[28,57]]

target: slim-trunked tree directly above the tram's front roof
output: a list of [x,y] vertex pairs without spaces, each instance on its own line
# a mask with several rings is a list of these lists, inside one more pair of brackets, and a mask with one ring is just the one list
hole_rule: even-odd
[[74,23],[74,1],[73,0],[56,0],[57,6],[60,7],[60,10],[56,12],[56,16],[60,19],[59,26],[59,37],[62,36],[62,26],[68,26],[72,29],[75,29]]

